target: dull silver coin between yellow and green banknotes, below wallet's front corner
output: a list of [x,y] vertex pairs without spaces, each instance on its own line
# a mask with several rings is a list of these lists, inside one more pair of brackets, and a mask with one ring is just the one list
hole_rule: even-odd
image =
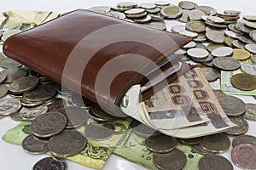
[[90,123],[85,127],[85,136],[92,140],[109,139],[115,133],[115,127],[111,123],[98,124],[96,122]]

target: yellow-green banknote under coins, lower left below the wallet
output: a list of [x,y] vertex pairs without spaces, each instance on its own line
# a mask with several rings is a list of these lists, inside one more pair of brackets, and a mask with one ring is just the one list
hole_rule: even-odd
[[[93,121],[88,121],[88,123],[91,122]],[[114,121],[113,125],[116,128],[116,134],[108,139],[101,141],[88,139],[88,143],[84,150],[82,150],[76,156],[67,157],[67,160],[75,161],[86,167],[101,169],[108,161],[108,157],[112,154],[114,148],[113,146],[118,144],[119,139],[122,138],[123,132],[125,132],[125,130],[129,127],[130,123],[131,119]],[[30,134],[30,124],[31,122],[21,122],[17,127],[12,128],[7,133],[5,133],[3,135],[3,140],[10,144],[20,145],[22,140]],[[77,130],[81,133],[84,133],[84,127],[79,127]],[[50,155],[49,152],[47,154]]]

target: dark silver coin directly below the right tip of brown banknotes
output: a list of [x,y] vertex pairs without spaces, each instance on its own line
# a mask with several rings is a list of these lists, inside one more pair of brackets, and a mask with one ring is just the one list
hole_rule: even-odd
[[213,153],[223,153],[230,148],[230,139],[225,133],[212,134],[201,139],[203,149]]

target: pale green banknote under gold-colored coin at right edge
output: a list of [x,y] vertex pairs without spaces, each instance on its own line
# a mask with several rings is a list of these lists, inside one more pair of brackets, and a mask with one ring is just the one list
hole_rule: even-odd
[[[242,60],[241,64],[243,63],[250,63],[251,60]],[[256,95],[256,89],[254,90],[249,90],[249,91],[244,91],[235,88],[231,82],[230,78],[236,74],[241,73],[241,69],[238,69],[236,71],[221,71],[221,77],[220,77],[220,89],[225,93],[225,94],[236,94],[236,95]]]

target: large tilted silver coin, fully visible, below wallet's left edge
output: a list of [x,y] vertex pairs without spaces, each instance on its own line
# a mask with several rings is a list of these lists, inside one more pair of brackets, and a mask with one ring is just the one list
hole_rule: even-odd
[[9,92],[12,94],[21,94],[28,92],[38,86],[37,77],[22,77],[9,85]]

